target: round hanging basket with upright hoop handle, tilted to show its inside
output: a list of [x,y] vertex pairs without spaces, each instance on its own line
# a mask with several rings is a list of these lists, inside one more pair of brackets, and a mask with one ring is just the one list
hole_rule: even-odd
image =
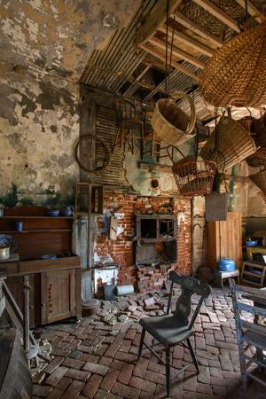
[[[176,92],[174,98],[157,101],[152,117],[155,141],[168,145],[181,145],[196,134],[196,113],[192,98],[184,93]],[[177,99],[187,98],[191,106],[191,117],[176,106]]]

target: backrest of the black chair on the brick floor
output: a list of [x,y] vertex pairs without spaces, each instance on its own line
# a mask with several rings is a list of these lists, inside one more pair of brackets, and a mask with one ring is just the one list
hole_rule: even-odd
[[[211,287],[206,284],[200,284],[200,281],[196,278],[192,278],[189,276],[181,276],[176,273],[176,271],[171,270],[169,273],[169,280],[171,281],[170,294],[168,299],[168,309],[167,313],[169,314],[171,300],[173,295],[174,284],[178,284],[181,286],[182,292],[180,297],[176,302],[176,310],[174,313],[174,317],[184,320],[184,322],[188,325],[189,328],[192,328],[192,325],[195,322],[196,317],[200,311],[200,306],[205,298],[211,293]],[[194,309],[192,313],[192,295],[193,293],[197,293],[200,295],[200,300],[196,309]],[[189,317],[192,313],[192,318],[189,323]]]

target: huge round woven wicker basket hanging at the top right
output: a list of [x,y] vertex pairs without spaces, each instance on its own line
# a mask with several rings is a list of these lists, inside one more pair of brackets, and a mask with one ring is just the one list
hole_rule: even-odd
[[200,76],[201,94],[213,106],[262,106],[266,104],[265,68],[263,18],[261,25],[246,29],[215,51]]

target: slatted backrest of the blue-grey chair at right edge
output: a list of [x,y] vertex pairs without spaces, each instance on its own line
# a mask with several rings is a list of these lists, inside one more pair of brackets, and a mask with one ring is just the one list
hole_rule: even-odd
[[[265,291],[262,293],[262,291],[260,292],[259,289],[246,286],[236,286],[235,281],[232,278],[229,279],[229,283],[231,288],[231,299],[235,314],[238,340],[241,340],[243,329],[248,329],[251,332],[258,332],[262,335],[265,335],[265,326],[258,325],[257,321],[259,317],[266,317],[266,309],[253,306],[245,302],[254,301],[256,304],[256,301],[260,303],[262,298],[266,302]],[[242,312],[245,312],[245,314],[243,315]],[[253,317],[254,319],[252,319]],[[249,319],[250,321],[248,321]]]

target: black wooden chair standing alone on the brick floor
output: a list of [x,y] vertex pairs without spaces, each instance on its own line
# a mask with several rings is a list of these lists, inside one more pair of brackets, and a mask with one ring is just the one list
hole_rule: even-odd
[[[156,356],[162,364],[166,366],[166,383],[167,383],[167,395],[170,395],[170,349],[176,345],[182,345],[184,348],[190,350],[193,364],[196,367],[197,374],[200,373],[199,364],[197,362],[196,356],[192,349],[192,344],[190,341],[190,336],[194,333],[193,325],[195,319],[200,311],[200,306],[207,296],[211,293],[210,286],[200,285],[200,282],[195,278],[189,276],[180,276],[176,271],[171,270],[169,273],[169,279],[171,281],[170,293],[168,298],[168,308],[167,315],[155,316],[155,317],[145,317],[140,320],[140,324],[143,327],[141,334],[141,340],[138,350],[138,359],[141,356],[142,348],[145,345],[154,356]],[[173,295],[174,284],[178,284],[182,288],[182,293],[177,300],[175,313],[170,315],[170,306]],[[192,312],[191,298],[192,294],[197,293],[200,295],[199,303],[196,309]],[[192,314],[192,315],[191,315]],[[190,320],[189,317],[191,316]],[[166,349],[166,361],[161,359],[161,357],[145,343],[145,332],[149,332],[153,335],[153,338],[158,340],[161,345]],[[187,345],[184,344],[186,341]],[[175,376],[184,372],[185,369],[190,367],[191,364],[187,364],[183,369],[179,370]]]

